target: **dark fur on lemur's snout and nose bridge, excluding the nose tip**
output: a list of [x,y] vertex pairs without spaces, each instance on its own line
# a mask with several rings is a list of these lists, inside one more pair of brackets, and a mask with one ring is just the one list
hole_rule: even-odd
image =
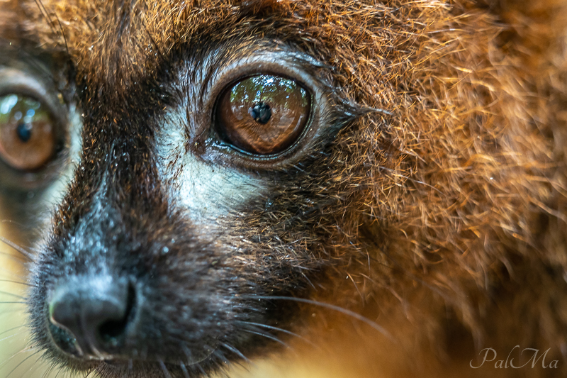
[[[168,201],[150,148],[159,113],[154,109],[162,108],[167,94],[159,95],[152,85],[136,87],[131,97],[98,93],[83,94],[86,103],[95,104],[84,109],[88,147],[33,266],[29,305],[36,342],[54,360],[72,369],[97,369],[103,377],[159,376],[160,363],[171,374],[200,374],[227,358],[240,359],[239,350],[253,354],[269,339],[242,322],[269,325],[293,318],[293,306],[274,313],[272,304],[255,297],[297,291],[302,285],[294,277],[301,277],[301,270],[242,248],[234,242],[237,229],[203,235]],[[127,279],[136,294],[135,318],[128,325],[133,334],[108,351],[119,359],[108,364],[64,355],[47,323],[54,289],[73,277],[99,274]],[[186,361],[203,348],[217,351],[189,366]]]

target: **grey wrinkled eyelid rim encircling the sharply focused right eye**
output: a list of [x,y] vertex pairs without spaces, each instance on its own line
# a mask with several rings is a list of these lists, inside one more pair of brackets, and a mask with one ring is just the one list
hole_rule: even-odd
[[[245,52],[240,51],[241,56]],[[323,65],[304,54],[288,52],[285,50],[252,50],[245,57],[228,57],[222,51],[218,52],[221,60],[214,65],[214,69],[203,76],[201,104],[198,109],[198,120],[195,122],[198,130],[190,138],[186,147],[204,160],[218,161],[230,160],[233,166],[242,166],[247,169],[276,169],[280,165],[287,165],[302,156],[302,152],[312,148],[330,128],[332,106],[331,94],[328,89],[332,86],[321,78],[320,70]],[[193,72],[194,74],[194,72]],[[214,127],[214,111],[218,97],[232,84],[246,77],[258,74],[270,74],[293,79],[308,90],[311,95],[310,119],[303,133],[291,148],[274,155],[253,155],[235,149],[232,145],[223,142]],[[194,145],[207,145],[203,151],[193,150]]]

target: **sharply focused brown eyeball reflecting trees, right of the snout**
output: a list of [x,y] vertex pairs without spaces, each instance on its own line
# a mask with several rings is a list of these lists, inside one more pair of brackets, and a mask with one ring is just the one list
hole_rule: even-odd
[[217,127],[237,148],[257,155],[286,150],[309,120],[310,94],[298,82],[263,74],[248,77],[221,94]]

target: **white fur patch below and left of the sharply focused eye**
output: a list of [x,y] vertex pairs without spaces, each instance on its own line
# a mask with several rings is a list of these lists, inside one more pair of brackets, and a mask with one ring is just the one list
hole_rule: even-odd
[[167,121],[156,141],[158,172],[172,202],[186,210],[191,221],[212,225],[264,196],[267,188],[262,180],[186,152],[186,118],[169,113],[164,119]]

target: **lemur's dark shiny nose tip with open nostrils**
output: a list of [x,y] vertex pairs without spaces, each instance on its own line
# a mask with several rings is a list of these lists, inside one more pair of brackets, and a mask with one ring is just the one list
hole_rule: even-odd
[[[128,280],[106,275],[73,277],[52,293],[50,322],[74,338],[72,354],[107,358],[116,352],[133,318],[135,292]],[[58,345],[67,343],[60,339],[54,335]],[[60,347],[69,352],[69,345]]]

